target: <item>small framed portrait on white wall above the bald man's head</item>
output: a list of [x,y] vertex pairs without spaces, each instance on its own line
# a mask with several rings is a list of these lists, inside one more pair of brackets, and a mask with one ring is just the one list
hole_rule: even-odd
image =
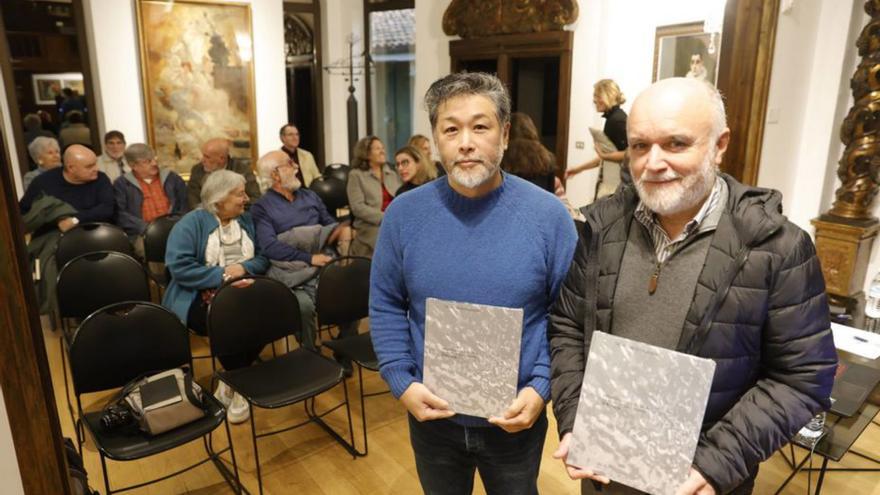
[[692,77],[711,83],[718,80],[721,34],[706,33],[702,22],[658,26],[654,37],[652,81],[667,77]]

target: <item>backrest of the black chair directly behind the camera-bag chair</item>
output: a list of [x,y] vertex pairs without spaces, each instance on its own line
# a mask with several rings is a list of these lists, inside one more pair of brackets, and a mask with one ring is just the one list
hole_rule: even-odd
[[144,267],[127,254],[98,251],[77,256],[61,268],[56,287],[62,318],[85,318],[108,304],[149,301]]

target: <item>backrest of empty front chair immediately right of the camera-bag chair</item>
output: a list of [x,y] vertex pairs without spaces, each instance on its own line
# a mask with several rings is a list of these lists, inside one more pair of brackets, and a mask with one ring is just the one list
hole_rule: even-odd
[[[235,280],[253,283],[238,288]],[[264,276],[246,276],[224,284],[208,306],[208,340],[214,356],[262,349],[297,334],[302,328],[299,303],[283,283]]]

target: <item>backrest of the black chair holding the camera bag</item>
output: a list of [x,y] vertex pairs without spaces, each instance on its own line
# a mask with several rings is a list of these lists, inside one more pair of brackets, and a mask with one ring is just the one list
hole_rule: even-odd
[[149,302],[105,306],[77,329],[70,344],[76,394],[121,387],[145,373],[192,364],[180,319]]

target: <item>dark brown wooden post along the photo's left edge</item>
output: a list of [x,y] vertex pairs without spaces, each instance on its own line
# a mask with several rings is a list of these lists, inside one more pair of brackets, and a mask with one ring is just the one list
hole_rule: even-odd
[[[0,68],[7,84],[13,127],[18,118],[12,66],[0,13]],[[11,98],[11,99],[10,99]],[[13,131],[22,142],[21,126]],[[19,153],[21,154],[21,153]],[[27,159],[20,163],[27,166]],[[24,227],[18,211],[12,160],[0,133],[0,387],[12,429],[12,441],[25,493],[71,493],[55,406],[52,375],[30,275]]]

